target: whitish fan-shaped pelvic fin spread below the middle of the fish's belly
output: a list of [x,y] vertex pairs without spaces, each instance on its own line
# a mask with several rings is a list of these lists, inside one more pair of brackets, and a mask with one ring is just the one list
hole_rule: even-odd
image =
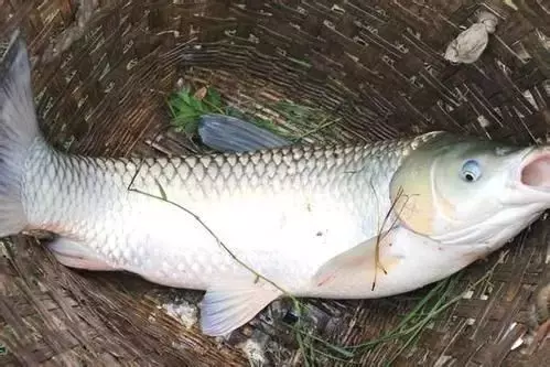
[[206,291],[201,327],[211,336],[226,335],[250,321],[282,292],[261,280],[224,281]]

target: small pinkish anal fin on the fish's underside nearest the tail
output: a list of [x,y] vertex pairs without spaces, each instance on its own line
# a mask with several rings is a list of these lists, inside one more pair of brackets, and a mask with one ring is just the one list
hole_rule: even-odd
[[97,271],[119,270],[101,260],[97,253],[85,245],[67,238],[57,238],[48,244],[47,248],[57,261],[68,268]]

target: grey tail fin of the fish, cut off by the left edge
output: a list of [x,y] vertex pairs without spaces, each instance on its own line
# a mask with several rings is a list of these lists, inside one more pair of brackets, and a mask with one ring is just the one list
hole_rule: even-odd
[[39,136],[29,55],[18,31],[0,61],[0,237],[26,226],[22,179],[29,148]]

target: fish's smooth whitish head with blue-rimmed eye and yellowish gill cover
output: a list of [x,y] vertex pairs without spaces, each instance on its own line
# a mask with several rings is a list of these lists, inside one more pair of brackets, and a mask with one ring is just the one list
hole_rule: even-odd
[[435,134],[403,160],[390,194],[410,230],[488,252],[550,207],[550,148]]

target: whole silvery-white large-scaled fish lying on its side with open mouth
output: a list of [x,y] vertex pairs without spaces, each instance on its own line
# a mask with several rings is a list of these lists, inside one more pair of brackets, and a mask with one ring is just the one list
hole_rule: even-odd
[[48,231],[63,266],[204,291],[224,336],[280,298],[373,299],[450,277],[550,206],[550,148],[428,131],[291,143],[203,116],[217,151],[88,156],[41,132],[26,44],[0,66],[0,237]]

